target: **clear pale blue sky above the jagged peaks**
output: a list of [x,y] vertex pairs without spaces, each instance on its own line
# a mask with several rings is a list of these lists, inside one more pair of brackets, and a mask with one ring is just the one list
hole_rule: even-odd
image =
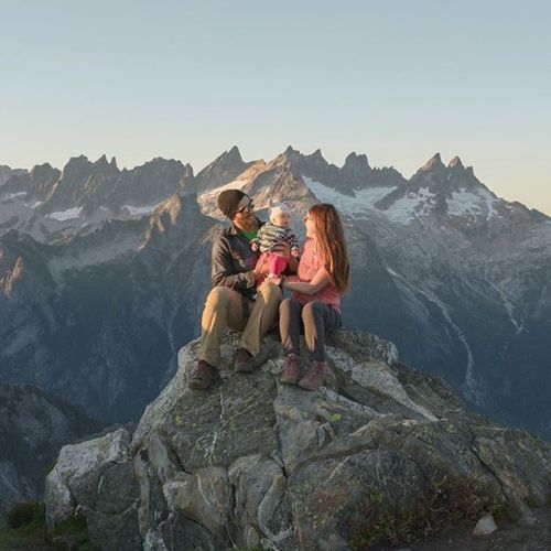
[[0,0],[0,164],[237,144],[409,177],[458,154],[551,215],[551,2]]

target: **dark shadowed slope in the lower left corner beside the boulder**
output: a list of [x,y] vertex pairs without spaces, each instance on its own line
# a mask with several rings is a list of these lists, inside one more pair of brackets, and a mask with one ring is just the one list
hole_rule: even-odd
[[60,449],[98,428],[37,387],[0,383],[0,526],[14,504],[42,499],[46,469]]

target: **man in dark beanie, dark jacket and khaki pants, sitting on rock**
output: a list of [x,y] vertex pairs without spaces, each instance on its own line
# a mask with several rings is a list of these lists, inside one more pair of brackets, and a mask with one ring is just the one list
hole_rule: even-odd
[[[276,322],[282,298],[281,289],[272,283],[257,290],[257,281],[268,274],[269,267],[256,269],[259,252],[250,247],[262,225],[252,199],[240,190],[226,190],[218,196],[218,208],[231,226],[213,244],[214,289],[203,311],[198,361],[188,382],[197,390],[207,389],[219,378],[220,342],[228,327],[242,331],[235,370],[248,372],[258,367],[262,338]],[[296,269],[292,257],[289,264]]]

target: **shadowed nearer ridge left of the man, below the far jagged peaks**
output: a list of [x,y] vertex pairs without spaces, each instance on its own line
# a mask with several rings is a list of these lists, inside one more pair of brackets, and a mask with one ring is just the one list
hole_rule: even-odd
[[195,336],[210,227],[192,194],[56,246],[0,237],[2,379],[105,422],[139,418]]

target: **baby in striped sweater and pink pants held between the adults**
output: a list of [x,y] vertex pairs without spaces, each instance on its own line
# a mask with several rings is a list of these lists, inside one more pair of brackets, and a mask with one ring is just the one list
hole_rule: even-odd
[[268,206],[270,208],[270,222],[258,230],[257,237],[252,239],[250,245],[252,250],[260,249],[262,253],[257,266],[268,262],[270,267],[269,277],[277,278],[287,268],[287,258],[280,252],[281,244],[288,244],[291,255],[298,257],[299,240],[289,227],[291,222],[289,205],[272,203],[270,199]]

